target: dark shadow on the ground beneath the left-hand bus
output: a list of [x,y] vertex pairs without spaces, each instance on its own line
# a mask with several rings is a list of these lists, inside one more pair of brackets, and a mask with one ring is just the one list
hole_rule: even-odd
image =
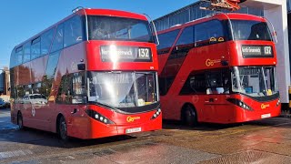
[[57,137],[55,133],[46,132],[34,128],[25,129],[4,129],[0,130],[0,142],[15,142],[32,144],[61,149],[74,149],[82,147],[99,147],[101,145],[116,144],[119,141],[134,139],[132,136],[115,136],[95,139],[69,138],[64,141]]

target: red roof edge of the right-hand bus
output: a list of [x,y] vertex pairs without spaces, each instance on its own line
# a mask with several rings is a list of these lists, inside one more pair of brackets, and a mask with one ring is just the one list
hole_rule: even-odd
[[198,19],[190,21],[190,22],[186,22],[183,25],[171,26],[170,28],[159,31],[157,34],[158,35],[163,34],[163,33],[169,32],[169,31],[184,28],[186,26],[193,26],[193,25],[203,23],[203,22],[213,20],[213,19],[226,20],[228,18],[229,19],[237,19],[237,20],[252,20],[252,21],[266,22],[266,19],[262,16],[246,15],[246,14],[239,14],[239,13],[216,13],[216,14],[212,14],[212,15],[206,15],[205,17],[198,18]]

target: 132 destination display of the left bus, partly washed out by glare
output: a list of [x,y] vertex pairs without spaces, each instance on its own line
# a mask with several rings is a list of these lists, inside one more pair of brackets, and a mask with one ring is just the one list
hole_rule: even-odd
[[152,52],[148,47],[138,46],[101,46],[103,62],[150,62]]

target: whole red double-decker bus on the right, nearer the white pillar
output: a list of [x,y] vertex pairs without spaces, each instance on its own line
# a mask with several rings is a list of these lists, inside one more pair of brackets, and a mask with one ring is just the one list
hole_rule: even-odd
[[163,118],[237,123],[280,114],[266,19],[216,14],[158,33]]

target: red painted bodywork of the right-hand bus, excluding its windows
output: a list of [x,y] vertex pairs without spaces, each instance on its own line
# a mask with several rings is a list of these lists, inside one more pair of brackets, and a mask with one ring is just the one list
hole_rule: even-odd
[[[161,38],[163,35],[173,31],[179,31],[175,41],[166,53],[165,47],[158,47],[160,87],[164,85],[161,84],[163,83],[163,79],[168,77],[173,78],[174,76],[173,82],[166,90],[166,93],[163,94],[163,91],[160,91],[162,93],[161,106],[163,118],[183,119],[183,111],[187,106],[193,108],[198,122],[229,124],[279,116],[280,100],[278,92],[276,94],[273,94],[273,92],[272,96],[270,94],[269,96],[261,98],[254,98],[236,92],[227,94],[206,94],[206,92],[200,94],[194,92],[191,94],[181,94],[183,87],[186,86],[187,78],[189,78],[191,73],[199,74],[201,72],[208,72],[207,75],[211,76],[211,72],[217,69],[229,70],[233,67],[276,67],[276,49],[273,41],[259,39],[234,40],[224,37],[223,41],[216,42],[215,44],[192,46],[183,57],[169,58],[169,56],[175,54],[176,49],[183,49],[183,46],[189,46],[177,46],[179,37],[183,35],[187,27],[201,25],[213,20],[225,22],[226,24],[224,26],[229,26],[229,19],[231,21],[247,20],[266,23],[266,19],[255,15],[216,14],[158,33],[159,38]],[[216,26],[207,26],[206,28],[216,28]],[[204,33],[203,31],[200,32]],[[160,39],[160,42],[163,44],[163,40]],[[273,56],[244,57],[242,55],[242,46],[271,46]],[[163,89],[163,87],[161,88]],[[246,104],[250,109],[241,108],[237,104],[239,102]]]

